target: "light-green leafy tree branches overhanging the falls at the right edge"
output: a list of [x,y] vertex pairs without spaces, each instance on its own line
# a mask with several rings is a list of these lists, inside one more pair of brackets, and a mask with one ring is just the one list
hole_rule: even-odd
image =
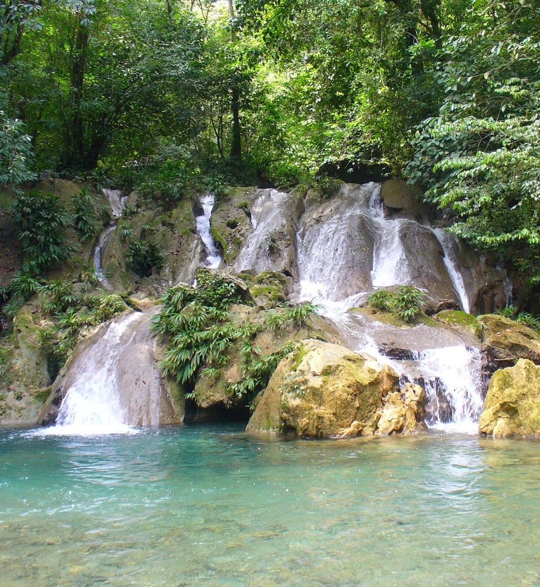
[[448,212],[450,228],[540,283],[540,36],[527,3],[488,2],[448,39],[445,97],[414,140],[410,181]]

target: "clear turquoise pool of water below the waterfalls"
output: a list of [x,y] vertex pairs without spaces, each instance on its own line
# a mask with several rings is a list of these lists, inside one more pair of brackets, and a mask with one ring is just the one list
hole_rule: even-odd
[[2,587],[540,585],[540,444],[0,433]]

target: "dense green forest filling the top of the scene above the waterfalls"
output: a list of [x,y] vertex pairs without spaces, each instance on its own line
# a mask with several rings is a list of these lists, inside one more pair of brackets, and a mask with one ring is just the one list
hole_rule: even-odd
[[[539,42],[534,2],[9,0],[0,183],[48,170],[163,202],[393,173],[534,288]],[[46,238],[36,270],[65,254]]]

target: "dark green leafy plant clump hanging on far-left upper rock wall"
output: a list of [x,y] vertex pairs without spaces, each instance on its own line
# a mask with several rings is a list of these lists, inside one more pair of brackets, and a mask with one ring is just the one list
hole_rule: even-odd
[[73,252],[66,237],[69,217],[58,196],[38,190],[21,194],[11,205],[11,218],[21,231],[26,271],[39,273]]

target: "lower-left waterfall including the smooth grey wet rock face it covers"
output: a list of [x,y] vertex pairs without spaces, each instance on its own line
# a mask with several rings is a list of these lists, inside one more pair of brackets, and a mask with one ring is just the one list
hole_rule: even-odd
[[62,379],[56,425],[37,434],[125,434],[181,421],[157,366],[156,311],[123,314],[83,340]]

